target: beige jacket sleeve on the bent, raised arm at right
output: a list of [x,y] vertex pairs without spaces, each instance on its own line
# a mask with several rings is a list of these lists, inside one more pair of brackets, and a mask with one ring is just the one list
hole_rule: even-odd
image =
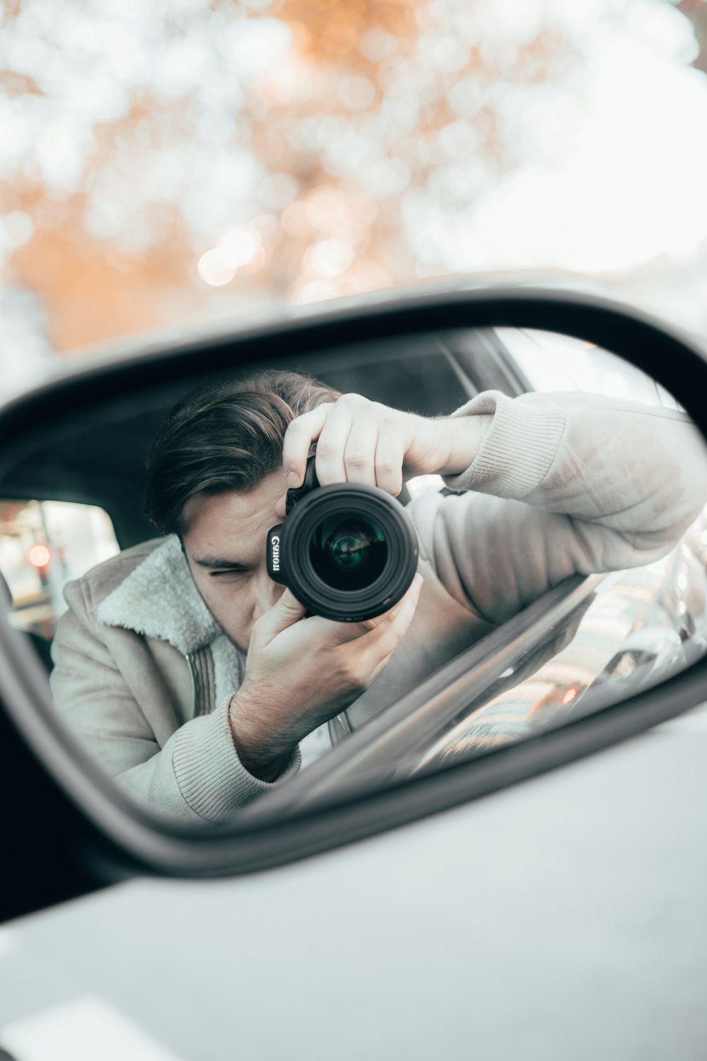
[[[601,395],[484,392],[479,452],[410,511],[446,590],[497,624],[571,574],[638,567],[707,501],[707,447],[679,412]],[[463,492],[461,492],[463,491]]]

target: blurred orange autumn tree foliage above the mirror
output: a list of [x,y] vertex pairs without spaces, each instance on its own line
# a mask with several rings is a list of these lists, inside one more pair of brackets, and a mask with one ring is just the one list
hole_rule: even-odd
[[5,0],[0,264],[60,351],[477,267],[482,195],[577,136],[560,12]]

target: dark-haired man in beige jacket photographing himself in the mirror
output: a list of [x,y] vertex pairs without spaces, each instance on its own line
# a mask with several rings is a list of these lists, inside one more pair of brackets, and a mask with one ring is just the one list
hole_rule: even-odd
[[[412,502],[419,573],[365,623],[305,616],[265,570],[315,442],[322,486],[396,494],[438,473],[464,491]],[[683,414],[597,395],[488,392],[438,419],[289,372],[188,396],[147,467],[164,537],[66,588],[57,708],[156,810],[226,820],[318,754],[349,705],[365,719],[568,575],[664,556],[706,469]]]

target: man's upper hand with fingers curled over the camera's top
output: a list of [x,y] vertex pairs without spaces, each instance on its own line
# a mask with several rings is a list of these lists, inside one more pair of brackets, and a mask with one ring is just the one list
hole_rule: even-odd
[[[368,483],[393,497],[413,475],[454,475],[478,453],[491,416],[427,419],[360,395],[342,395],[288,425],[282,452],[286,488],[301,486],[310,449],[321,486]],[[276,509],[285,515],[284,494]]]

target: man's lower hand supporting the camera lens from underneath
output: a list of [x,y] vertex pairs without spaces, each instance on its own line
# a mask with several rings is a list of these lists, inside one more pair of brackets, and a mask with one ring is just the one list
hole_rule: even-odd
[[241,762],[273,780],[307,733],[347,708],[384,668],[420,598],[416,575],[394,608],[363,623],[304,619],[290,590],[253,626],[229,721]]

